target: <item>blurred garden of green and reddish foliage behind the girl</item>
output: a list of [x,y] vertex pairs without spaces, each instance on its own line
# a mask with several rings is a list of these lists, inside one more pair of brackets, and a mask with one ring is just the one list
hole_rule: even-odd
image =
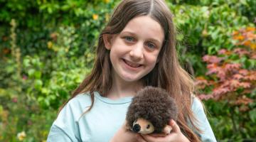
[[[46,141],[117,0],[0,0],[0,141]],[[218,141],[256,141],[256,1],[169,0]]]

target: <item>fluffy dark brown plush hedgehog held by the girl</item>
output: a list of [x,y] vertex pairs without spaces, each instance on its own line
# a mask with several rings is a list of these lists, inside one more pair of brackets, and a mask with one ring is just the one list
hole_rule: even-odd
[[136,133],[170,133],[170,119],[176,121],[177,107],[168,92],[145,87],[132,99],[127,111],[127,129]]

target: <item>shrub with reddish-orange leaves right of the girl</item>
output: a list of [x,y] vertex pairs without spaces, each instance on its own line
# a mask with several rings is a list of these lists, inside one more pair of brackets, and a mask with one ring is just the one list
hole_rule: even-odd
[[233,50],[221,49],[218,55],[205,55],[205,77],[196,77],[200,99],[225,100],[230,106],[247,111],[254,102],[250,94],[256,87],[256,28],[242,28],[233,33]]

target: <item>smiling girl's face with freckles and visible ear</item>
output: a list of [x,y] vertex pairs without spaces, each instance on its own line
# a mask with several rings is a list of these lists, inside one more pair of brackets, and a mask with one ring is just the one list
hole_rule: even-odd
[[110,50],[113,78],[136,82],[156,65],[164,40],[160,24],[149,16],[133,18],[105,46]]

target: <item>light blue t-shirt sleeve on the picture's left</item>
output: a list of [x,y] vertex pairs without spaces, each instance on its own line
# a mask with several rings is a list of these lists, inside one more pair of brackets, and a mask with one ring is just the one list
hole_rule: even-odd
[[78,141],[80,138],[78,122],[90,104],[89,93],[78,94],[70,99],[53,122],[47,141]]

